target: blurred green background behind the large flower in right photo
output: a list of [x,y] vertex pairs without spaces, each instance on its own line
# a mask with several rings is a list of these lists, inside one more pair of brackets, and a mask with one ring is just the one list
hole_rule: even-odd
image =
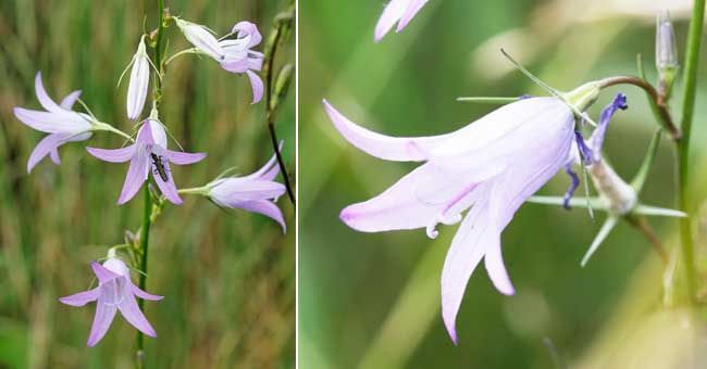
[[[358,151],[335,131],[321,104],[326,98],[354,122],[392,136],[448,132],[494,109],[459,103],[457,97],[543,94],[513,71],[500,47],[560,90],[636,74],[638,53],[655,80],[655,16],[671,10],[682,59],[690,5],[433,0],[401,34],[392,31],[375,44],[382,0],[300,0],[300,366],[704,368],[704,320],[687,319],[680,296],[672,308],[662,308],[663,267],[640,233],[621,224],[581,268],[605,215],[592,221],[585,211],[534,204],[521,207],[503,234],[517,295],[496,292],[479,267],[457,319],[455,347],[439,313],[439,275],[456,226],[439,226],[436,240],[424,230],[347,228],[338,219],[342,208],[379,194],[415,165]],[[692,145],[695,208],[706,194],[704,80]],[[680,87],[672,106],[678,116]],[[597,116],[619,91],[631,107],[611,123],[605,153],[631,179],[656,124],[643,92],[633,87],[605,91],[591,113]],[[663,139],[642,195],[646,203],[674,206],[672,149]],[[541,193],[559,195],[568,184],[569,178],[558,175]],[[672,250],[677,221],[650,222]],[[704,225],[697,244],[703,280]]]

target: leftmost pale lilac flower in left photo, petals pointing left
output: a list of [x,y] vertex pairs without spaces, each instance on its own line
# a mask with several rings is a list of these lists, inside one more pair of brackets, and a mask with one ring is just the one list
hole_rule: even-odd
[[29,155],[27,162],[27,173],[49,155],[55,164],[60,164],[59,147],[66,142],[84,141],[91,137],[91,130],[95,129],[95,118],[72,111],[72,106],[78,100],[80,90],[67,94],[60,104],[57,104],[47,94],[41,84],[41,73],[37,72],[35,77],[35,92],[37,100],[46,111],[35,111],[24,107],[15,107],[14,114],[20,122],[36,130],[49,133],[45,137]]

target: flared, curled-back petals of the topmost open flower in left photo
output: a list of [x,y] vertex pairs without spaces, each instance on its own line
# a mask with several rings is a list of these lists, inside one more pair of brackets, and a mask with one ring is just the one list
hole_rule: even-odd
[[250,22],[237,23],[233,26],[231,35],[235,35],[236,38],[219,41],[225,54],[225,58],[220,61],[221,67],[231,73],[245,73],[252,87],[252,104],[258,103],[262,99],[264,87],[260,76],[252,71],[262,68],[263,54],[250,49],[260,43],[262,36],[258,27]]

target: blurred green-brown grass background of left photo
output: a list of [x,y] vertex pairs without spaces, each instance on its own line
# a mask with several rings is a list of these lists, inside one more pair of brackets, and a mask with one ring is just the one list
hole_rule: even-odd
[[[266,39],[286,1],[168,0],[166,7],[221,35],[248,20]],[[61,166],[45,160],[27,175],[27,158],[42,135],[22,125],[12,107],[38,109],[34,76],[41,71],[54,100],[83,89],[82,99],[99,119],[129,131],[127,82],[115,86],[146,16],[147,31],[154,27],[156,8],[145,0],[0,2],[2,368],[134,365],[135,330],[123,318],[97,347],[86,348],[94,305],[72,308],[57,301],[87,289],[94,278],[89,260],[122,243],[124,230],[139,227],[141,199],[115,206],[127,166],[99,162],[84,143],[72,143],[60,149]],[[170,54],[187,47],[176,26],[166,37]],[[294,37],[278,60],[295,62]],[[271,157],[264,100],[249,104],[246,77],[187,56],[170,64],[164,88],[162,120],[187,151],[209,153],[198,165],[173,169],[179,187],[201,186],[232,166],[249,174]],[[294,175],[294,89],[277,129]],[[122,139],[99,133],[88,144],[115,148]],[[166,206],[150,238],[148,291],[165,298],[146,303],[158,332],[146,341],[148,368],[294,367],[294,209],[286,196],[278,205],[289,226],[286,236],[263,216],[228,215],[200,198]]]

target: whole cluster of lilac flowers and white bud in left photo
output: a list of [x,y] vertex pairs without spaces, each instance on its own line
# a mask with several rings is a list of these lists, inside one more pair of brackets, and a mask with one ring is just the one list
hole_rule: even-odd
[[[219,62],[223,69],[248,76],[252,87],[253,104],[262,99],[263,82],[256,72],[262,67],[263,54],[253,50],[261,42],[262,37],[255,24],[239,22],[230,34],[216,39],[212,31],[202,25],[169,14],[161,20],[161,22],[169,21],[175,22],[187,41],[194,46],[194,48],[176,53],[172,59],[188,53],[206,54]],[[161,29],[162,27],[159,31]],[[156,53],[162,52],[159,42],[156,43],[152,40],[152,43],[149,43],[150,39],[148,35],[140,37],[137,52],[125,71],[127,73],[127,69],[132,68],[127,87],[126,118],[137,122],[136,135],[125,133],[113,125],[100,122],[83,102],[82,105],[86,109],[86,113],[73,110],[74,104],[79,101],[80,91],[78,90],[69,93],[60,103],[57,103],[47,93],[41,74],[37,73],[35,91],[44,110],[14,109],[14,114],[20,122],[33,129],[48,133],[32,152],[27,162],[27,171],[32,171],[46,156],[49,156],[55,164],[60,164],[59,148],[65,143],[86,141],[97,131],[109,131],[120,135],[127,140],[125,143],[129,144],[110,150],[87,147],[86,150],[90,155],[104,162],[129,162],[123,189],[117,196],[119,205],[131,201],[144,186],[154,183],[160,193],[150,189],[148,198],[153,204],[153,212],[156,208],[158,212],[162,208],[164,200],[179,205],[183,202],[181,194],[198,194],[223,208],[245,209],[265,215],[277,221],[284,232],[285,221],[275,202],[285,192],[285,187],[275,181],[278,167],[275,166],[274,157],[263,168],[250,176],[220,177],[197,189],[179,190],[177,188],[171,166],[195,164],[202,161],[207,154],[174,151],[168,148],[168,137],[171,136],[169,127],[159,118],[161,80],[165,77],[164,65],[166,62],[159,62],[160,59],[157,58],[154,63],[150,60],[147,44],[153,46]],[[148,117],[140,119],[151,77],[154,77],[152,109]],[[151,219],[154,215],[156,213],[147,219]],[[124,262],[138,260],[137,255],[147,252],[140,249],[140,244],[147,245],[147,232],[141,229],[135,234],[145,239],[110,247],[108,257],[102,265],[91,262],[91,268],[98,279],[97,288],[60,298],[61,303],[71,306],[84,306],[96,302],[96,315],[87,342],[89,347],[96,345],[106,335],[116,311],[121,311],[123,317],[141,333],[157,336],[156,330],[140,310],[136,297],[149,301],[160,301],[163,297],[144,291],[145,278],[140,278],[140,287],[133,283],[131,270],[146,277],[144,265],[137,262],[134,265],[128,265]],[[125,252],[127,257],[121,257],[119,251]]]

